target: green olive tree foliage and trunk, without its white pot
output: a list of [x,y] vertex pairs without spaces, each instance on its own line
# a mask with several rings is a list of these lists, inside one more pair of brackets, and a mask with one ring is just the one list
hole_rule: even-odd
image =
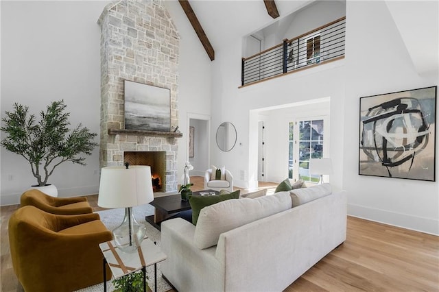
[[29,114],[29,108],[14,104],[14,110],[6,111],[0,128],[5,137],[0,145],[19,154],[29,162],[36,186],[46,186],[49,176],[58,165],[71,161],[86,165],[82,154],[91,155],[97,146],[93,141],[97,134],[79,124],[69,129],[69,113],[64,100],[53,101],[46,111],[40,112],[37,122],[35,114]]

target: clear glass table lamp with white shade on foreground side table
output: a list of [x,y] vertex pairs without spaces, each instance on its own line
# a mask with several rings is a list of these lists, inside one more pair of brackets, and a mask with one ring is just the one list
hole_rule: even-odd
[[143,165],[104,167],[99,183],[97,205],[103,208],[125,208],[120,226],[112,230],[115,244],[123,252],[134,252],[145,237],[145,224],[138,223],[132,212],[133,206],[154,200],[151,167]]

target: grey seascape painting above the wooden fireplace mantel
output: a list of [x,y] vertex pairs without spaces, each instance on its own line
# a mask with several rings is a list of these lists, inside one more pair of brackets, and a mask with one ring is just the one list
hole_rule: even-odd
[[125,129],[169,132],[171,91],[125,80]]

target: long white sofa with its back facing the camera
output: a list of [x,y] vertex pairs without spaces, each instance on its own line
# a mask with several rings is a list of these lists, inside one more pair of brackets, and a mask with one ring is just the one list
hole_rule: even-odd
[[161,271],[180,292],[282,291],[345,241],[346,204],[323,184],[204,207],[197,226],[165,221]]

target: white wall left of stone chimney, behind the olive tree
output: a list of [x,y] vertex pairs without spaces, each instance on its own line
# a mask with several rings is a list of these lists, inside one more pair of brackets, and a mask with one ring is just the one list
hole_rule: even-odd
[[[100,29],[103,1],[1,2],[1,117],[12,105],[36,113],[64,99],[71,126],[99,133]],[[1,134],[3,137],[3,133]],[[99,137],[95,139],[99,142]],[[23,158],[1,151],[1,204],[16,204],[36,184]],[[87,166],[66,162],[49,178],[60,197],[97,193],[99,149]]]

